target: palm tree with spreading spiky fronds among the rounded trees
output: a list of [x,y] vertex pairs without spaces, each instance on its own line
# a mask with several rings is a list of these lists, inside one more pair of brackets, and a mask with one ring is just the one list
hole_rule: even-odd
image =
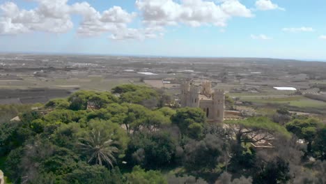
[[112,162],[116,162],[114,155],[119,152],[116,148],[117,141],[110,139],[111,136],[105,136],[100,130],[93,130],[88,138],[80,138],[79,146],[86,155],[91,155],[88,163],[95,160],[95,164],[102,165],[104,162],[113,167]]

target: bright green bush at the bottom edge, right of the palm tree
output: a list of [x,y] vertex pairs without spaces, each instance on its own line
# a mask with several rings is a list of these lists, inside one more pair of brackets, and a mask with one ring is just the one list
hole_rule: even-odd
[[136,166],[130,174],[125,174],[128,184],[166,184],[166,179],[160,171],[145,171]]

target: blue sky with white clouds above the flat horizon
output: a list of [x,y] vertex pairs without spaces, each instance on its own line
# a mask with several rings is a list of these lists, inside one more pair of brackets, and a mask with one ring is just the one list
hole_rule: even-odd
[[0,0],[0,52],[326,60],[325,0]]

